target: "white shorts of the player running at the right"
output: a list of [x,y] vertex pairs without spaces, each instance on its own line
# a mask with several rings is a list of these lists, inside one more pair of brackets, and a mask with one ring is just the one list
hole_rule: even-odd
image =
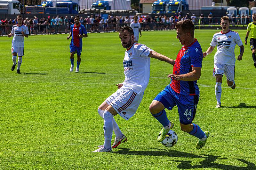
[[229,81],[235,81],[235,66],[228,64],[214,63],[213,76],[215,74],[225,74]]

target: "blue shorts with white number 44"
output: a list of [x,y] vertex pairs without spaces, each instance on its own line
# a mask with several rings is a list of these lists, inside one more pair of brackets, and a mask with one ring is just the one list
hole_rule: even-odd
[[174,106],[177,106],[180,123],[191,124],[196,115],[199,95],[181,95],[168,85],[155,97],[154,100],[161,102],[164,105],[164,108],[167,108],[168,110],[172,110]]

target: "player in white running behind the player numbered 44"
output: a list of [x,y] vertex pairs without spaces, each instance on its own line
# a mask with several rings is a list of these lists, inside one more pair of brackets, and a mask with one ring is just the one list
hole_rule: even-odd
[[240,47],[240,54],[237,60],[242,60],[244,53],[244,45],[237,32],[229,30],[229,18],[227,16],[220,19],[221,32],[215,33],[212,38],[210,47],[203,53],[203,57],[212,53],[215,46],[217,46],[217,52],[214,55],[214,67],[213,76],[216,77],[215,84],[215,96],[217,100],[216,108],[221,107],[221,83],[223,74],[227,77],[228,86],[232,89],[236,88],[235,84],[235,46]]

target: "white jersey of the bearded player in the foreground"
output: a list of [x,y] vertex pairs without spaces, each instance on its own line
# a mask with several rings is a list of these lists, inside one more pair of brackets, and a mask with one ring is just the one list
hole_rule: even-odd
[[144,92],[149,81],[150,51],[153,50],[139,43],[134,43],[125,51],[123,87],[130,88],[137,94]]

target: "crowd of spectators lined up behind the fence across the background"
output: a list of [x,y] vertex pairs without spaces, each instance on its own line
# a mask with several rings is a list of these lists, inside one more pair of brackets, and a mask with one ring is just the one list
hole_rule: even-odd
[[[233,26],[246,25],[250,22],[250,17],[246,14],[234,16],[227,13],[230,18],[230,23]],[[141,29],[146,30],[173,30],[174,25],[181,20],[191,19],[195,25],[215,25],[219,23],[220,18],[213,18],[212,12],[208,17],[204,17],[201,14],[196,17],[195,14],[191,16],[187,13],[185,16],[181,16],[181,13],[174,13],[172,16],[159,15],[151,17],[149,15],[139,16],[139,22]],[[85,26],[87,32],[112,32],[118,31],[122,25],[130,25],[133,21],[132,18],[127,16],[111,16],[108,18],[101,18],[99,16],[87,16],[87,18],[80,17],[80,23]],[[23,24],[27,25],[30,34],[57,34],[68,33],[70,25],[74,24],[74,16],[68,18],[68,16],[56,17],[42,17],[37,18],[24,18]],[[17,19],[2,19],[0,18],[0,35],[7,35],[11,32],[12,25],[17,24]]]

